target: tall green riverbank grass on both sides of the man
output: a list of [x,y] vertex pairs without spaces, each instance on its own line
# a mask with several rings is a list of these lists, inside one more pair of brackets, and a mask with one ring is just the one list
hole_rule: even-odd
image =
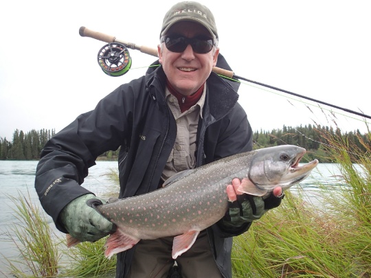
[[[234,278],[371,277],[371,144],[363,141],[365,151],[344,137],[322,136],[330,141],[326,148],[340,167],[344,185],[336,192],[319,186],[322,205],[308,202],[304,190],[286,192],[280,207],[234,239]],[[117,172],[109,175],[118,184]],[[8,261],[14,277],[114,276],[116,261],[104,257],[105,238],[67,249],[64,236],[53,235],[45,213],[29,196],[12,200],[23,223],[14,224],[10,233],[20,254],[19,261]],[[17,263],[27,269],[20,270]]]

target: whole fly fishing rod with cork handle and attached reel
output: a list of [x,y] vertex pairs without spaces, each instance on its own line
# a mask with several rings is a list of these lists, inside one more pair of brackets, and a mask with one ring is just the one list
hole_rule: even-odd
[[[158,57],[157,49],[152,47],[146,47],[144,45],[136,45],[135,43],[129,43],[126,42],[125,40],[120,40],[115,36],[89,30],[87,27],[84,26],[80,27],[78,32],[80,36],[87,36],[89,38],[95,38],[96,40],[101,40],[104,43],[108,43],[107,45],[104,45],[104,47],[102,47],[98,52],[98,63],[102,68],[102,71],[104,71],[104,73],[106,73],[109,76],[122,76],[128,72],[128,70],[131,67],[131,57],[128,52],[128,48],[139,50],[144,54]],[[311,100],[312,102],[324,104],[326,106],[337,108],[348,113],[352,113],[364,118],[371,119],[371,116],[369,115],[359,113],[357,111],[352,111],[348,108],[340,107],[334,104],[330,104],[328,102],[322,102],[321,100],[316,100],[312,97],[306,97],[305,95],[300,95],[298,93],[286,91],[284,89],[280,89],[275,86],[271,86],[254,80],[249,80],[247,78],[243,78],[242,76],[236,76],[236,74],[234,74],[233,71],[228,71],[227,69],[214,67],[212,71],[222,77],[230,78],[237,81],[244,80],[246,82],[258,84],[259,86],[264,86],[269,89],[280,91],[282,93],[287,93],[289,95],[295,95],[296,97],[301,97],[304,98],[305,100]]]

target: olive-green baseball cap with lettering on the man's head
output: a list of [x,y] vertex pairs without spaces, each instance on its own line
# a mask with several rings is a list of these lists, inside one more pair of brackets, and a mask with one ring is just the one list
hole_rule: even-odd
[[173,5],[164,16],[160,38],[168,32],[172,25],[179,21],[194,21],[199,23],[210,32],[216,41],[218,40],[218,30],[216,29],[214,15],[201,3],[183,1]]

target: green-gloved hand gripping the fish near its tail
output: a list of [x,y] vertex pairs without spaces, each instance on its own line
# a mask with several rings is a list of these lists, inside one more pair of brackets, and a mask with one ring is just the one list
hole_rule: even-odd
[[98,199],[103,204],[106,203],[93,194],[86,194],[69,202],[59,215],[59,220],[65,229],[80,242],[95,242],[108,235],[113,229],[112,222],[87,205],[89,199]]

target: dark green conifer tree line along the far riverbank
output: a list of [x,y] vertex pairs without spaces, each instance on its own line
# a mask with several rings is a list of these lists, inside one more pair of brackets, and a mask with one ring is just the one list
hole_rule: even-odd
[[[291,144],[308,150],[308,159],[319,159],[320,162],[331,162],[324,148],[328,142],[322,136],[324,133],[345,137],[349,143],[354,143],[360,150],[365,149],[363,144],[370,142],[367,134],[359,130],[342,133],[339,128],[328,126],[283,126],[282,129],[270,131],[254,131],[254,148],[267,148]],[[38,160],[45,143],[55,135],[55,130],[31,130],[23,132],[15,130],[12,141],[0,137],[0,160]],[[119,150],[102,154],[100,160],[113,160],[118,156]],[[366,152],[366,149],[365,149]]]

